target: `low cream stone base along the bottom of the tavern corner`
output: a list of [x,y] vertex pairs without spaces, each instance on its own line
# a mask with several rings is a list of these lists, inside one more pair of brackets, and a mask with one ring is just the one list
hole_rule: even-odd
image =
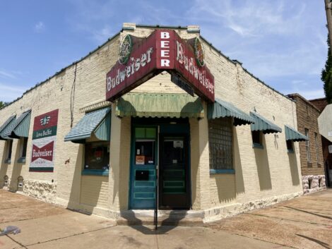
[[[290,200],[302,195],[302,192],[278,195],[271,198],[264,198],[246,203],[236,203],[215,207],[206,210],[158,210],[159,225],[176,226],[202,226],[205,223],[218,221],[237,214],[249,212],[253,209],[268,207],[270,205]],[[125,210],[121,212],[112,211],[102,207],[91,207],[88,205],[74,204],[69,205],[69,209],[77,212],[95,214],[108,219],[117,221],[119,225],[153,225],[154,210]]]

